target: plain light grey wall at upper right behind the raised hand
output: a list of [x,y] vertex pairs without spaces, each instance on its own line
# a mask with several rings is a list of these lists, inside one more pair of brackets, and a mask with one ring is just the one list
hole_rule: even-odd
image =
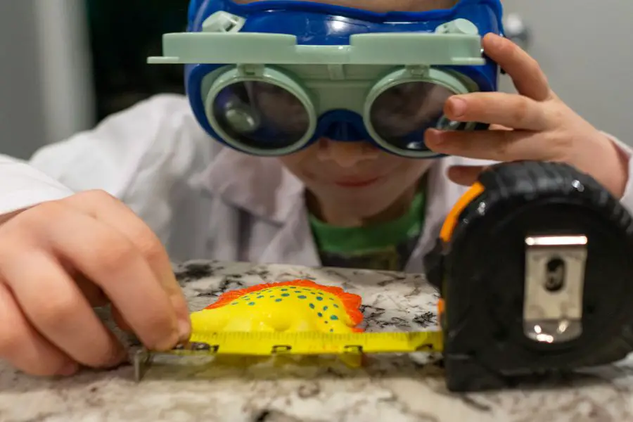
[[[556,94],[633,146],[633,1],[504,0],[532,32],[529,53]],[[504,90],[513,91],[504,80]]]

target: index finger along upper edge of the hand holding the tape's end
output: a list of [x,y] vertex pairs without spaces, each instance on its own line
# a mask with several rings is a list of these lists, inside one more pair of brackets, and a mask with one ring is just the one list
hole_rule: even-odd
[[186,340],[191,332],[187,302],[174,276],[169,256],[153,231],[127,206],[100,191],[75,195],[69,198],[68,204],[112,226],[134,244],[167,292],[177,314],[181,340]]

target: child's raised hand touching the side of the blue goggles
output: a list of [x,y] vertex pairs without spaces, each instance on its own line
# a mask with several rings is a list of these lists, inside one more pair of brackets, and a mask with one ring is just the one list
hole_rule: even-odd
[[[492,124],[490,131],[440,132],[426,143],[437,153],[494,161],[566,162],[590,174],[617,198],[628,179],[628,158],[589,122],[561,101],[538,63],[509,39],[488,34],[483,47],[512,78],[518,94],[473,93],[452,96],[445,113],[455,121]],[[473,184],[482,167],[453,167],[456,183]]]

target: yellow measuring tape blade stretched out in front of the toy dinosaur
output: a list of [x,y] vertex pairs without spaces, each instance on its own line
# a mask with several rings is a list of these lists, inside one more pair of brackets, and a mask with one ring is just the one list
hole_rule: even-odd
[[170,354],[345,354],[441,352],[441,331],[410,333],[222,332],[193,333]]

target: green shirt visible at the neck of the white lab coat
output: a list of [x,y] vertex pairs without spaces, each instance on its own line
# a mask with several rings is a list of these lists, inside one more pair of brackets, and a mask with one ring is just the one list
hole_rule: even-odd
[[310,215],[312,234],[326,267],[402,271],[421,235],[424,194],[399,219],[364,227],[336,227]]

